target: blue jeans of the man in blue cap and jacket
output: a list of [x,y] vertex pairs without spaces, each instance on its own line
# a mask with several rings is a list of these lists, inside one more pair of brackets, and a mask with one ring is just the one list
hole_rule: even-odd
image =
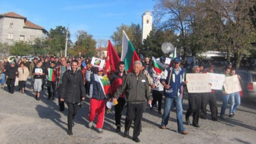
[[169,116],[170,116],[170,109],[172,108],[173,102],[175,102],[176,104],[178,131],[182,132],[185,129],[183,127],[183,121],[182,121],[183,109],[182,109],[181,95],[175,98],[168,98],[168,97],[164,98],[164,111],[163,111],[163,118],[162,118],[161,125],[167,126],[169,121]]

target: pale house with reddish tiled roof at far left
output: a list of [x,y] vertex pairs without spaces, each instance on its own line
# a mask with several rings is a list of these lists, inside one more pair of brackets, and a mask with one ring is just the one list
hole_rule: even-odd
[[26,17],[14,12],[0,14],[0,42],[12,45],[16,41],[33,42],[36,38],[45,38],[47,31]]

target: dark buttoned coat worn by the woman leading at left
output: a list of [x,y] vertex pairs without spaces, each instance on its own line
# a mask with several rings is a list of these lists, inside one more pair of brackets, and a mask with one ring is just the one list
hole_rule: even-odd
[[80,70],[75,73],[68,70],[63,73],[60,87],[60,97],[65,99],[66,103],[79,103],[81,97],[86,97],[86,89],[83,85],[83,76]]

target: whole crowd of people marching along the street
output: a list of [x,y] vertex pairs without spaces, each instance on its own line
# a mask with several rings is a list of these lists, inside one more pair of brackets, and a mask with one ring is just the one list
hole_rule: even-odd
[[[164,65],[164,61],[161,61]],[[1,84],[7,84],[8,92],[13,94],[15,86],[19,86],[20,93],[25,93],[26,81],[30,77],[31,87],[35,92],[35,99],[40,100],[41,91],[47,84],[48,100],[58,97],[60,111],[68,107],[68,135],[73,135],[74,116],[78,107],[83,106],[86,95],[90,98],[88,115],[88,127],[93,126],[95,116],[97,118],[97,132],[102,133],[105,115],[106,101],[113,102],[115,109],[116,132],[121,131],[122,111],[126,108],[124,126],[124,137],[129,136],[129,130],[134,121],[132,140],[140,142],[138,136],[142,131],[142,115],[146,106],[150,109],[156,106],[158,113],[162,114],[161,129],[167,129],[170,110],[175,108],[177,113],[178,132],[189,134],[183,126],[183,95],[186,91],[185,73],[215,73],[215,66],[194,65],[191,71],[183,68],[180,58],[176,57],[173,64],[164,65],[162,72],[155,71],[146,57],[144,61],[135,61],[133,71],[125,71],[125,63],[120,61],[117,70],[109,76],[110,92],[106,93],[100,78],[104,76],[105,68],[94,67],[89,58],[66,57],[39,57],[29,62],[26,57],[18,61],[8,62],[4,58],[0,62]],[[236,74],[232,63],[224,68],[223,74],[230,77]],[[238,76],[240,79],[240,77]],[[211,83],[209,83],[211,84]],[[151,96],[152,92],[152,96]],[[58,95],[56,95],[58,93]],[[199,118],[206,119],[206,106],[209,103],[211,119],[218,121],[216,92],[212,89],[210,93],[188,93],[189,108],[185,114],[185,124],[190,125],[190,115],[193,116],[192,126],[199,127]],[[164,104],[162,99],[164,96]],[[226,94],[222,90],[222,106],[220,118],[225,120],[225,111],[230,102],[229,116],[233,118],[237,107],[240,105],[241,92]],[[162,113],[163,107],[163,113]]]

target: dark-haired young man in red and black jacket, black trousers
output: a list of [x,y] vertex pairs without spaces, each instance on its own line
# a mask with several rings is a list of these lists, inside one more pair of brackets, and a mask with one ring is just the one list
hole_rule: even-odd
[[[116,90],[122,85],[122,80],[125,78],[125,63],[120,61],[118,63],[118,70],[111,74],[110,76],[110,84],[111,84],[111,94],[113,95]],[[115,125],[116,125],[116,132],[121,131],[121,117],[122,117],[122,110],[124,109],[125,105],[125,94],[122,93],[119,96],[118,104],[115,105]]]

